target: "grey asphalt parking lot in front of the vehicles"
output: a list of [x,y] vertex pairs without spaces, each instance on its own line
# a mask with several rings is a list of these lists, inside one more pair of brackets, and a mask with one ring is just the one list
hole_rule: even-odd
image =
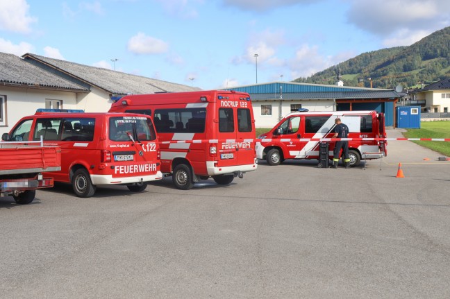
[[0,198],[1,297],[448,298],[450,162],[388,150],[366,169],[260,162],[225,187]]

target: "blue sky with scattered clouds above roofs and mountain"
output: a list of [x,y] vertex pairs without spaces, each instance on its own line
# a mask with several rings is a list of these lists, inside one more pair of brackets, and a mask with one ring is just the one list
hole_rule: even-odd
[[0,0],[0,52],[201,89],[310,76],[446,26],[449,0]]

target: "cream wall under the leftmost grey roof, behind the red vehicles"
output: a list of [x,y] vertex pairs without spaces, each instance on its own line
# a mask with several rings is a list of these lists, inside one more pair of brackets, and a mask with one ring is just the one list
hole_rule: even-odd
[[62,100],[63,108],[77,109],[76,93],[24,87],[1,86],[0,95],[6,96],[6,123],[0,126],[0,135],[9,133],[13,126],[36,109],[45,108],[45,100]]

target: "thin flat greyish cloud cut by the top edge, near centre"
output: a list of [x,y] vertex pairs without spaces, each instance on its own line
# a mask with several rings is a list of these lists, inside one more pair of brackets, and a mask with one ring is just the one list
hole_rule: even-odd
[[266,11],[297,4],[315,3],[315,0],[223,0],[224,6],[242,10]]

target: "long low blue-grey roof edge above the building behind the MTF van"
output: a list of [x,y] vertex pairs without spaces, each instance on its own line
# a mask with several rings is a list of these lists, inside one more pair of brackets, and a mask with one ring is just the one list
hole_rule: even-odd
[[[279,100],[280,94],[250,94],[253,101]],[[283,100],[306,99],[395,99],[399,94],[394,90],[351,91],[351,92],[294,92],[281,94]]]

